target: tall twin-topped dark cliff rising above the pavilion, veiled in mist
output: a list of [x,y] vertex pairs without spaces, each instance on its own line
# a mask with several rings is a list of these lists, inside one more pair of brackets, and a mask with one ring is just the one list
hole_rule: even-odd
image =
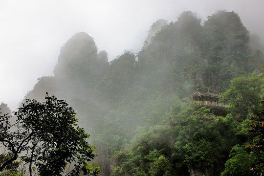
[[228,80],[252,72],[263,61],[259,51],[252,53],[256,49],[251,49],[249,39],[235,12],[219,11],[203,25],[196,14],[183,12],[143,47],[138,63],[145,69],[170,65],[198,88],[223,91]]

